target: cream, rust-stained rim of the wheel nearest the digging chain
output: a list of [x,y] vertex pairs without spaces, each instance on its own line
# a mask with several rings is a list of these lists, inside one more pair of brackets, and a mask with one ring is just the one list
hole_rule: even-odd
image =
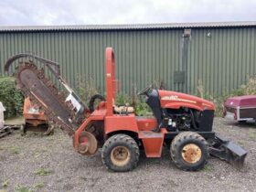
[[131,158],[130,151],[125,146],[116,146],[112,149],[111,159],[114,165],[126,165]]

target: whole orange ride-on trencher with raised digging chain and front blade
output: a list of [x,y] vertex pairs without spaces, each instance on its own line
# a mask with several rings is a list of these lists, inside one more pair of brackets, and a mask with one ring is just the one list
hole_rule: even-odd
[[[112,48],[106,48],[106,98],[91,97],[87,107],[60,76],[59,64],[31,54],[18,54],[5,64],[7,71],[17,59],[27,58],[16,68],[16,85],[33,103],[44,109],[73,139],[81,155],[94,155],[101,147],[104,165],[113,171],[130,171],[139,156],[161,157],[163,146],[170,148],[174,164],[187,171],[206,165],[214,155],[240,168],[247,151],[212,131],[215,106],[212,102],[176,91],[155,90],[150,86],[138,94],[146,97],[154,117],[137,117],[132,107],[115,105],[115,61]],[[44,64],[57,80],[49,80]],[[53,77],[51,75],[51,77]],[[59,80],[65,91],[59,91]],[[94,101],[101,102],[94,107]]]

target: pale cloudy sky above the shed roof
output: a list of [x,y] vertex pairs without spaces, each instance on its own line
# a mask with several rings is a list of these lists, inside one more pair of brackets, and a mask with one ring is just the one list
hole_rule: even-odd
[[0,0],[0,26],[256,21],[256,0]]

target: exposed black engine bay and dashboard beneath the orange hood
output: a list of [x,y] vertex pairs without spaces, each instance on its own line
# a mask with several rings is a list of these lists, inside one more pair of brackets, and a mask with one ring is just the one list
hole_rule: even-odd
[[165,127],[168,132],[212,131],[214,110],[205,107],[205,109],[201,111],[183,105],[183,101],[197,102],[199,101],[198,98],[197,101],[191,101],[168,96],[167,103],[177,102],[179,104],[178,108],[170,108],[161,106],[162,99],[157,90],[148,90],[144,94],[147,96],[146,103],[152,109],[157,120],[158,128]]

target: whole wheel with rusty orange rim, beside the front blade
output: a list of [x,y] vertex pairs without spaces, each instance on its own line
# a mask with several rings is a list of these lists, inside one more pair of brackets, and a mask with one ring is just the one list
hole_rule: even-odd
[[176,135],[170,152],[175,165],[186,171],[202,169],[208,161],[208,143],[198,133],[183,132]]

